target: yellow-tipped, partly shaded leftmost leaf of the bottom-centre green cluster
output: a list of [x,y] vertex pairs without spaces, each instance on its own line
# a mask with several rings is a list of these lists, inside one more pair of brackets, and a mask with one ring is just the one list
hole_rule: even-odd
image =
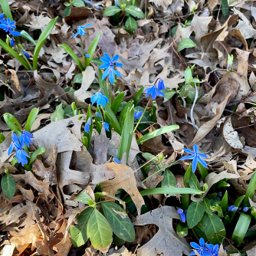
[[71,242],[75,247],[80,247],[84,245],[87,238],[87,228],[86,225],[90,219],[91,213],[94,211],[94,208],[88,207],[79,215],[77,215],[77,226],[71,226],[69,232],[71,233]]

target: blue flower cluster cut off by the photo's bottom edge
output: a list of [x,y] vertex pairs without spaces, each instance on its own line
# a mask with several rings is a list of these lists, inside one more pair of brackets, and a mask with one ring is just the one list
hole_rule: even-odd
[[[195,242],[191,242],[190,245],[192,248],[195,248],[201,256],[218,256],[218,245],[207,244],[203,238],[200,238],[199,245]],[[189,255],[195,255],[195,251],[192,251]]]

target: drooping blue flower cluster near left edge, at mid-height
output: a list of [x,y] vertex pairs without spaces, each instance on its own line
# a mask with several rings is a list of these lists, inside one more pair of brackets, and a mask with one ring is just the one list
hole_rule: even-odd
[[15,149],[15,156],[18,162],[21,162],[21,165],[25,166],[25,164],[28,163],[27,157],[30,158],[30,156],[28,156],[28,153],[24,150],[24,146],[27,145],[29,147],[29,143],[32,144],[32,138],[34,138],[34,136],[26,130],[23,130],[19,137],[15,132],[11,133],[12,142],[8,148],[8,156],[10,156],[12,150]]

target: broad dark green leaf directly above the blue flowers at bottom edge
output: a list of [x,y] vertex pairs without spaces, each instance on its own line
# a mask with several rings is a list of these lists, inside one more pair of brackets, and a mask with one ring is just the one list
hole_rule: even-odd
[[223,237],[226,236],[226,231],[222,219],[215,214],[205,214],[204,225],[205,235],[208,240],[210,240],[211,244],[221,244],[224,239]]

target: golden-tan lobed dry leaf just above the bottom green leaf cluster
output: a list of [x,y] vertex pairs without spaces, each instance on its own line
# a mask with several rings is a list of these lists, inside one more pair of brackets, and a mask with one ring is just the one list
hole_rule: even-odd
[[140,215],[140,209],[145,202],[137,189],[133,169],[131,169],[129,166],[124,166],[115,162],[108,163],[107,169],[111,172],[115,172],[116,177],[114,179],[102,182],[102,190],[109,192],[111,195],[116,195],[117,189],[124,189],[133,199],[138,211],[138,215]]

